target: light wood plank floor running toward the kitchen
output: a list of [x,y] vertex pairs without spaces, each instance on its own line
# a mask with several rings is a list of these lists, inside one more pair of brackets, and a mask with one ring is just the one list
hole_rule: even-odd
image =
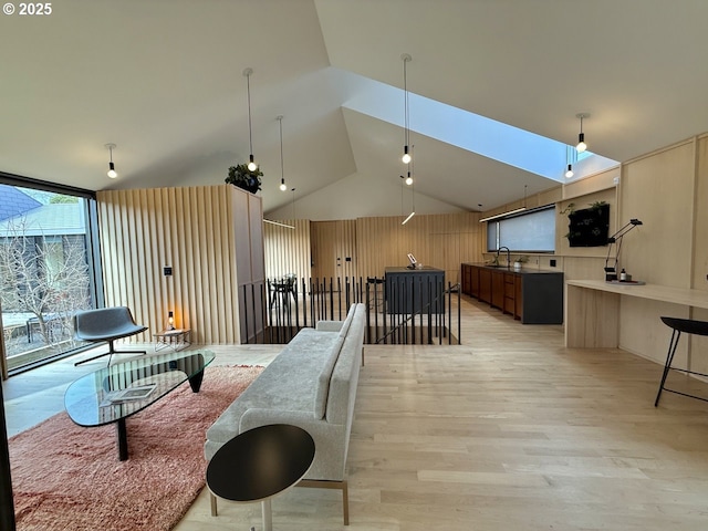
[[[274,529],[708,529],[708,403],[665,393],[655,408],[653,362],[564,348],[561,326],[521,325],[469,300],[462,313],[460,346],[366,347],[351,525],[339,491],[291,489],[272,502]],[[266,364],[275,351],[229,347],[217,360]],[[11,431],[18,404],[37,417],[52,409],[38,393],[54,399],[31,383],[39,373],[15,378],[6,384]],[[708,395],[708,384],[681,383]],[[261,529],[258,504],[219,508],[210,517],[202,492],[176,530]]]

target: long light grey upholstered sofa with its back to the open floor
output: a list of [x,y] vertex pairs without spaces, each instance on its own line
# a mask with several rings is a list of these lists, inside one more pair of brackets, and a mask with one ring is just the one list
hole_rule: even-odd
[[[345,467],[365,325],[365,305],[357,303],[344,321],[320,321],[315,329],[301,330],[207,430],[206,458],[248,429],[299,426],[314,439],[315,455],[298,485],[341,489],[347,525]],[[216,514],[214,496],[211,513]]]

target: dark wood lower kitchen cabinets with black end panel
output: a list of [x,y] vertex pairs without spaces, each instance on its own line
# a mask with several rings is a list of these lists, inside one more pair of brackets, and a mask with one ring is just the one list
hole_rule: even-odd
[[[462,263],[462,293],[523,324],[563,323],[563,273]],[[466,280],[465,280],[466,279]]]

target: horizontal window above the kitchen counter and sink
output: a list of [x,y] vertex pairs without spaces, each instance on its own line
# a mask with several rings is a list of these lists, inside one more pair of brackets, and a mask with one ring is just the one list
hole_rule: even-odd
[[487,223],[487,250],[508,247],[517,252],[555,251],[555,206],[527,210]]

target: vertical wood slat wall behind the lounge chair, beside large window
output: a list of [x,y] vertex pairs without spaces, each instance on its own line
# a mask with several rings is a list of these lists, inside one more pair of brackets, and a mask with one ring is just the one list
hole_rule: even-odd
[[132,341],[149,342],[171,310],[195,343],[239,343],[233,194],[246,192],[227,185],[97,192],[106,305],[127,305],[149,327]]

